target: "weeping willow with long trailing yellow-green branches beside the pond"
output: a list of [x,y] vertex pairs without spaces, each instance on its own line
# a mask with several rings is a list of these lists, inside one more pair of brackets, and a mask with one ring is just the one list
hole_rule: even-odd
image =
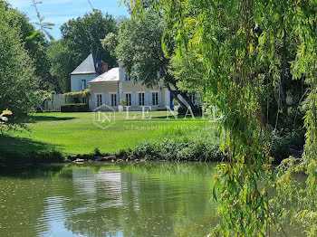
[[[307,235],[316,234],[316,138],[317,138],[317,27],[316,1],[303,0],[134,0],[134,13],[156,11],[164,16],[165,45],[176,43],[175,53],[196,53],[206,68],[207,102],[223,115],[222,149],[228,162],[216,167],[212,192],[222,222],[217,236],[265,236],[288,218],[286,192],[297,200],[293,223],[301,223]],[[307,98],[306,145],[303,161],[283,163],[275,180],[269,156],[261,106],[261,87],[280,84],[281,58],[277,42],[292,31],[299,38],[293,62],[294,78],[305,78]],[[164,44],[163,43],[163,44]],[[296,167],[295,167],[296,166]],[[282,166],[281,166],[282,167]],[[308,175],[303,192],[293,193],[292,175],[299,167]],[[276,189],[274,198],[269,190]],[[284,202],[283,202],[284,201]],[[302,202],[303,201],[303,202]]]

